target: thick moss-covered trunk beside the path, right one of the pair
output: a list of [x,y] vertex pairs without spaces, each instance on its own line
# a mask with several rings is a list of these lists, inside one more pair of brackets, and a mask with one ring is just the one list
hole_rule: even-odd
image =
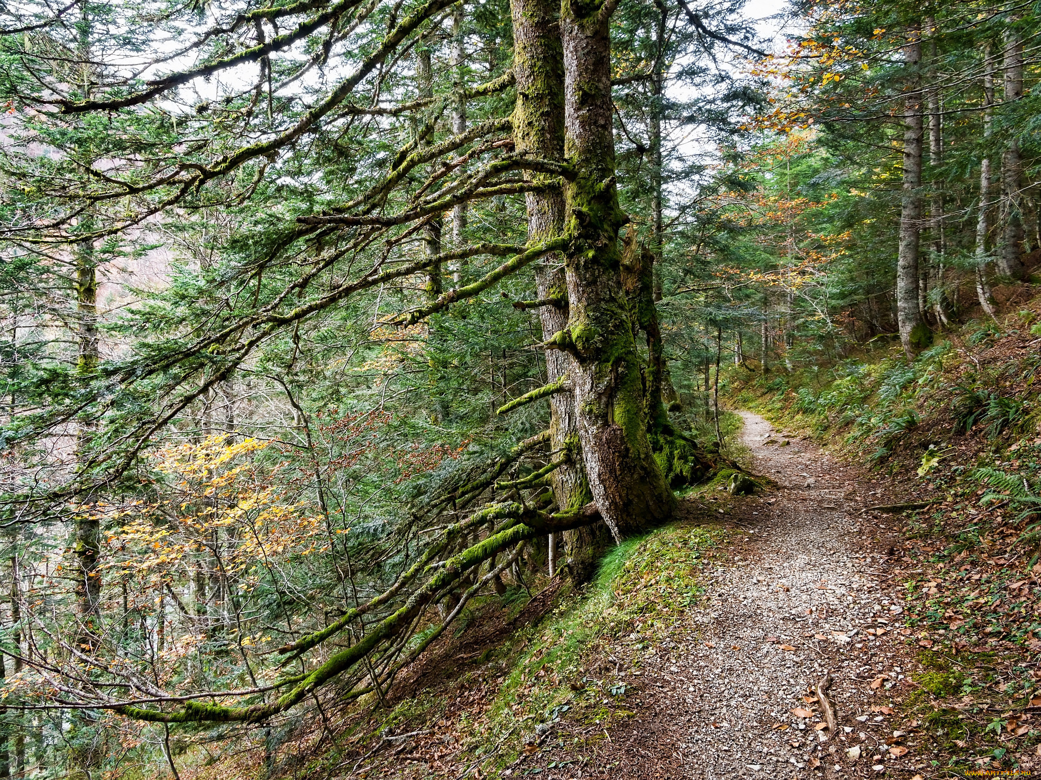
[[614,177],[612,0],[561,8],[564,49],[564,154],[576,177],[564,187],[569,317],[554,342],[570,356],[582,456],[593,500],[614,538],[666,520],[676,497],[651,451],[642,361],[621,287]]

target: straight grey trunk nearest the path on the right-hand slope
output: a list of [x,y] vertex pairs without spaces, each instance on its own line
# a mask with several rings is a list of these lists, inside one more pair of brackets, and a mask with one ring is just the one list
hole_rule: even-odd
[[929,342],[918,307],[918,250],[921,232],[921,31],[908,32],[904,60],[910,92],[904,108],[904,194],[900,203],[899,254],[896,260],[896,319],[908,360]]

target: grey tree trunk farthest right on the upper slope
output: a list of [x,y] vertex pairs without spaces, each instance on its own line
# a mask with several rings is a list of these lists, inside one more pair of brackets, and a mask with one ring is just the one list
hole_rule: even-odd
[[[1013,23],[1015,20],[1013,20]],[[1015,27],[1005,34],[1005,103],[1014,103],[1023,97],[1023,38]],[[1022,178],[1022,159],[1019,141],[1010,137],[1001,154],[1001,251],[997,267],[1002,276],[1022,279],[1023,261],[1020,257],[1023,242],[1023,218],[1019,203],[1019,181]]]

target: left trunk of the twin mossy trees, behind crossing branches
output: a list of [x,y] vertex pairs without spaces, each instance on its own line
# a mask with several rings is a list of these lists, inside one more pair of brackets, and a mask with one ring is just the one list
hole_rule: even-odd
[[[564,59],[560,42],[559,5],[553,0],[512,0],[513,74],[517,102],[513,112],[513,137],[517,153],[549,160],[564,158]],[[529,173],[529,178],[545,178]],[[564,198],[558,189],[527,194],[528,239],[544,241],[559,236],[564,224]],[[558,253],[547,256],[535,267],[540,301],[558,305],[539,307],[542,338],[567,328],[567,283],[560,269]],[[545,353],[550,384],[567,373],[567,356],[559,350]],[[550,476],[554,497],[562,511],[578,510],[591,499],[582,465],[575,399],[570,393],[550,396],[550,435],[554,450],[568,450],[570,463]],[[578,528],[564,532],[570,575],[585,580],[592,575],[603,547],[603,529]]]

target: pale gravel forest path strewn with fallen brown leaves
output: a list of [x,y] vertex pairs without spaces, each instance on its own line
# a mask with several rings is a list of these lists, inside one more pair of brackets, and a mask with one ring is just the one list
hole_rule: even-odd
[[[895,756],[903,748],[885,743],[897,728],[887,705],[909,660],[900,600],[884,581],[896,537],[860,516],[865,502],[882,502],[877,486],[812,442],[741,416],[754,471],[777,489],[719,501],[727,509],[716,513],[748,532],[706,566],[708,598],[674,639],[640,654],[625,703],[635,717],[611,729],[585,774],[550,769],[543,778],[915,774],[920,757]],[[830,736],[814,729],[819,706],[804,699],[827,670],[839,721]],[[814,714],[799,718],[796,708]],[[847,754],[858,746],[859,757]]]

